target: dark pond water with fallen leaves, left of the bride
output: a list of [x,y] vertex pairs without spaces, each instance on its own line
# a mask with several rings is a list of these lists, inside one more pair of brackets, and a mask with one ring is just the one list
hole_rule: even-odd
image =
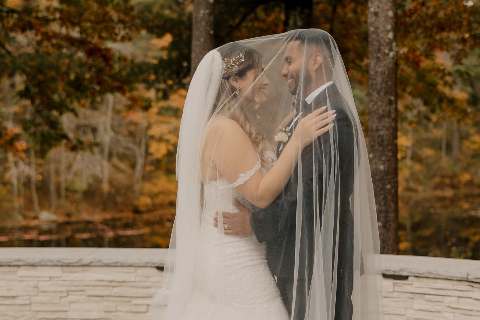
[[0,226],[0,247],[168,248],[174,210]]

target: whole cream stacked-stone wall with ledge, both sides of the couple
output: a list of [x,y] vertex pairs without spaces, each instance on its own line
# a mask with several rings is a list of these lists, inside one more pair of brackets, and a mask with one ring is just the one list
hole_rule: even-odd
[[[0,248],[0,320],[150,320],[165,249]],[[382,255],[385,320],[480,319],[480,261]]]

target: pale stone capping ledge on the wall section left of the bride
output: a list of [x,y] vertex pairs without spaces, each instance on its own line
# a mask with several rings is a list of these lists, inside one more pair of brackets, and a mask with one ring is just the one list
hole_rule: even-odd
[[164,266],[167,249],[0,248],[0,266]]

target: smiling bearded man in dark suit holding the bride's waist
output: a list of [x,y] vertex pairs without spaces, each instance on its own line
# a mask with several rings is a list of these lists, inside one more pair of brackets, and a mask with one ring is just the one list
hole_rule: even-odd
[[[333,52],[331,46],[335,48]],[[291,94],[297,96],[294,104],[296,114],[300,114],[301,118],[312,110],[328,105],[336,110],[335,127],[305,147],[301,154],[302,177],[298,176],[297,166],[283,192],[268,208],[250,214],[236,201],[239,213],[223,213],[223,223],[228,225],[225,234],[247,236],[253,232],[260,243],[266,243],[268,265],[277,277],[282,299],[288,312],[293,312],[293,319],[298,320],[303,320],[308,314],[307,297],[312,282],[315,249],[318,249],[315,248],[314,221],[316,218],[322,225],[324,214],[334,215],[330,220],[334,222],[333,239],[329,239],[334,251],[332,272],[336,267],[336,286],[332,284],[332,292],[336,293],[335,298],[332,297],[332,301],[335,301],[334,319],[351,320],[353,312],[353,217],[349,197],[353,190],[355,138],[348,106],[332,82],[336,52],[333,38],[324,31],[297,30],[289,35],[281,75],[286,78]],[[291,132],[299,120],[295,118],[288,124]],[[332,174],[332,168],[338,172]],[[333,181],[332,177],[335,177]],[[324,186],[330,188],[324,190]],[[300,204],[297,203],[299,190]],[[327,195],[328,192],[334,194]],[[333,208],[329,210],[332,212],[322,212],[322,199],[326,196],[335,199]],[[299,208],[301,230],[296,227]],[[315,210],[318,217],[314,217]],[[217,221],[216,218],[214,220]],[[298,247],[296,232],[300,235]],[[296,250],[298,276],[294,284]],[[326,297],[327,304],[329,298]],[[310,303],[314,305],[315,301]]]

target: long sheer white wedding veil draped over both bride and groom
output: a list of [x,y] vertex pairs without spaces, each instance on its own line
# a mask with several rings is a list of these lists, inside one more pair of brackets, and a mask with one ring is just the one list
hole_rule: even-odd
[[[336,111],[334,126],[318,139],[309,133],[303,147],[291,137],[305,136],[304,118],[321,107]],[[294,30],[206,54],[183,108],[176,165],[153,319],[383,319],[368,153],[328,33]],[[233,198],[251,212],[249,236],[226,231],[221,213],[239,211]]]

